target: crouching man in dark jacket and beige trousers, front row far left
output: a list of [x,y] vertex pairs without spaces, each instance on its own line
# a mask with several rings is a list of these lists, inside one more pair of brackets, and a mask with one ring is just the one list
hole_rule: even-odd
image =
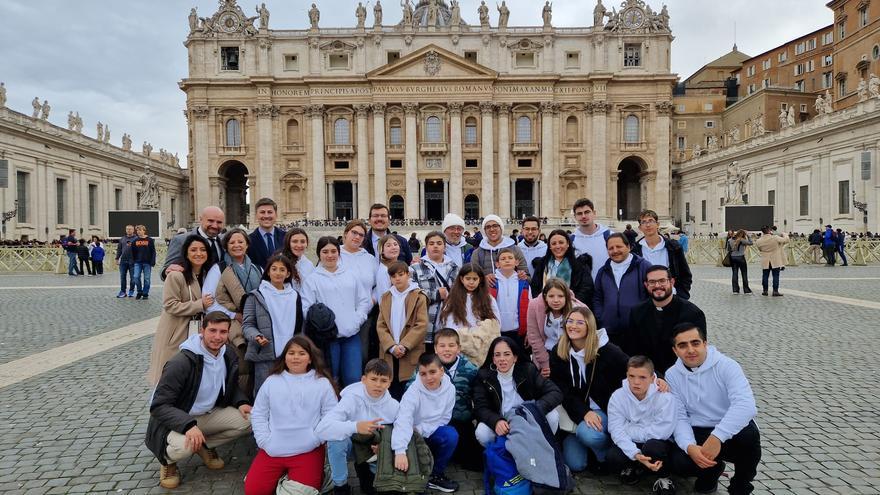
[[162,464],[163,488],[180,484],[176,463],[194,453],[208,469],[222,469],[216,447],[251,431],[251,406],[238,389],[238,359],[226,346],[229,325],[225,313],[208,313],[199,334],[165,364],[153,392],[144,443]]

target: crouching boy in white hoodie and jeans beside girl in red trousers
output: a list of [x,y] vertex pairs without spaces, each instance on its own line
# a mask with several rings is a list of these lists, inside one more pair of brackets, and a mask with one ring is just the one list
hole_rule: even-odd
[[[369,435],[394,423],[400,404],[388,393],[391,367],[381,359],[371,359],[364,367],[360,383],[342,389],[339,403],[321,419],[315,435],[327,442],[327,458],[333,479],[333,493],[351,493],[348,485],[348,458],[351,437]],[[372,494],[373,473],[366,463],[355,464],[361,493]]]

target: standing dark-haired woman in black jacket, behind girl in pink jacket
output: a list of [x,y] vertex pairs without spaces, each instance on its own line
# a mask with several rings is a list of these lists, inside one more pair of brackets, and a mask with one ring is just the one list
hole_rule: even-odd
[[561,279],[574,292],[578,301],[593,304],[592,268],[590,256],[575,258],[574,246],[568,233],[562,229],[550,232],[547,237],[547,254],[533,262],[535,274],[532,276],[532,294],[539,294],[544,284],[551,278]]

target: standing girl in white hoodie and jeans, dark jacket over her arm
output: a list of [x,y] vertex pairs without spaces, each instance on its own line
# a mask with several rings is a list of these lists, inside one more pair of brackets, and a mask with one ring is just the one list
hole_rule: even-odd
[[318,267],[303,285],[303,314],[308,317],[309,308],[322,303],[336,316],[338,337],[324,351],[330,354],[333,377],[346,387],[361,377],[360,331],[370,310],[370,293],[358,282],[351,263],[339,263],[339,243],[335,237],[318,239],[317,254]]

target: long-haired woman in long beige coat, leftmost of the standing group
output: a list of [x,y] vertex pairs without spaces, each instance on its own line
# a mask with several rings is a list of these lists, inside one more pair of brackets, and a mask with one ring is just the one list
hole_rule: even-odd
[[168,272],[165,278],[162,316],[159,317],[150,353],[148,381],[151,385],[159,382],[162,368],[177,354],[178,347],[189,335],[190,326],[196,328],[200,315],[214,304],[213,296],[202,295],[205,276],[214,265],[208,241],[198,234],[192,234],[183,241],[181,253],[183,271]]

